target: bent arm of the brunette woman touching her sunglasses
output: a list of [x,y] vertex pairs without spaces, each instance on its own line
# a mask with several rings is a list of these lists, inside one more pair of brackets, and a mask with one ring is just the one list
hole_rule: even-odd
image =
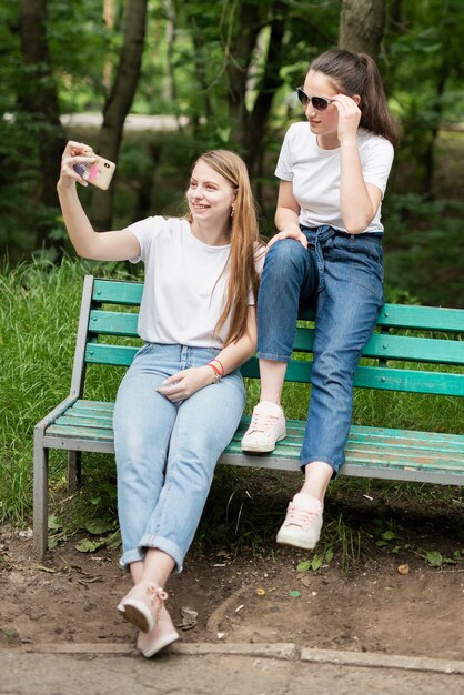
[[373,183],[364,181],[357,149],[361,111],[356,101],[345,94],[337,94],[333,98],[333,102],[339,110],[342,220],[349,234],[360,234],[375,218],[382,200],[382,191]]

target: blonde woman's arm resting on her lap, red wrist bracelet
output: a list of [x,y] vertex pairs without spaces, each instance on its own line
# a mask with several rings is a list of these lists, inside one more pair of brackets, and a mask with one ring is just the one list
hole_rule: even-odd
[[[235,343],[230,343],[223,348],[216,356],[216,360],[223,367],[224,376],[236,370],[255,353],[256,340],[256,310],[253,305],[250,305],[245,333]],[[158,391],[173,403],[178,403],[200,391],[200,389],[214,383],[214,370],[204,364],[203,366],[182,370],[173,374],[165,380]]]

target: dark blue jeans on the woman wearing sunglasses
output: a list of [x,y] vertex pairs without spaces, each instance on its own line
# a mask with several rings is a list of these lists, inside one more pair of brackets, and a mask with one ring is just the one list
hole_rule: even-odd
[[324,225],[305,229],[268,251],[258,298],[258,355],[289,362],[299,305],[315,308],[311,399],[301,465],[344,463],[353,407],[353,375],[383,305],[381,239]]

